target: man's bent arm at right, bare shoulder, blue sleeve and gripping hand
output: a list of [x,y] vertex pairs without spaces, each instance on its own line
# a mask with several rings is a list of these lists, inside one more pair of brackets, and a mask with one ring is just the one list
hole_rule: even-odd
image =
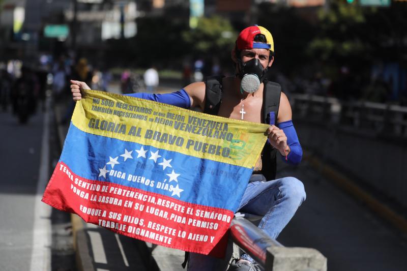
[[292,122],[293,113],[288,98],[284,93],[280,96],[277,124],[267,130],[271,145],[277,148],[283,160],[297,165],[302,159],[302,147]]

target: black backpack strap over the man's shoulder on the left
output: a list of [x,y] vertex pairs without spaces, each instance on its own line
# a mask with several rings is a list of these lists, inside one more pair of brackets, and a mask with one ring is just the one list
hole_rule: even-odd
[[217,115],[222,101],[222,78],[210,76],[205,80],[205,109],[203,113]]

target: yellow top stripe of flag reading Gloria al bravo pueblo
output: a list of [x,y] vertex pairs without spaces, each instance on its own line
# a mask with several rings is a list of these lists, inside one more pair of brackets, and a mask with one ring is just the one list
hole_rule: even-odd
[[[99,91],[84,91],[72,123],[100,136],[252,168],[269,127]],[[185,165],[186,167],[188,165]]]

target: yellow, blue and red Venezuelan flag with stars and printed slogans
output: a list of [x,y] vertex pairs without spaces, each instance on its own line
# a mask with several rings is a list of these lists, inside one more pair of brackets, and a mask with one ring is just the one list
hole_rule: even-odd
[[268,126],[98,91],[82,97],[42,201],[146,242],[213,252]]

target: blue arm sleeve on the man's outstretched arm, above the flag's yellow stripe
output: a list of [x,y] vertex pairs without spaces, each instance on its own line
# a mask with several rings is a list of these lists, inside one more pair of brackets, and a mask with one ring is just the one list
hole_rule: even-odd
[[189,109],[191,108],[191,100],[184,89],[178,92],[166,94],[150,94],[150,93],[131,93],[127,96],[136,97],[144,100],[156,101],[164,104],[175,105],[178,107]]

